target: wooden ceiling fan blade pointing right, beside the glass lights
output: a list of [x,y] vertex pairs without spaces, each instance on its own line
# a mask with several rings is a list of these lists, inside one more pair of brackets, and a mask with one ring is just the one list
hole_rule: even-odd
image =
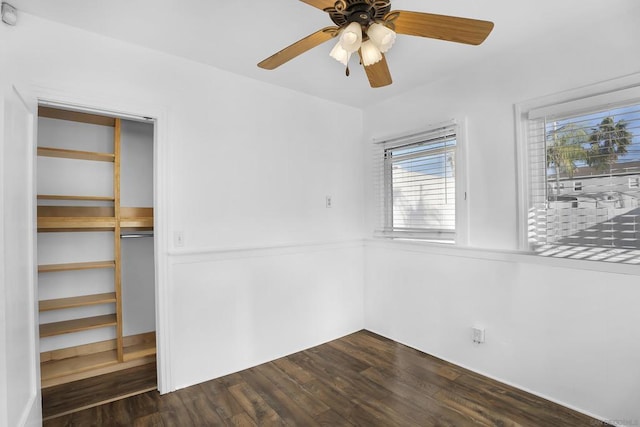
[[493,29],[493,22],[489,21],[406,10],[391,11],[384,20],[398,34],[472,45],[482,43]]

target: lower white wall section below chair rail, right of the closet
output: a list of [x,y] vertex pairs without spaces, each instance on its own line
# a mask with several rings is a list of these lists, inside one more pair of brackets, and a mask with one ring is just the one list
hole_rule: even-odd
[[359,241],[177,257],[172,316],[182,329],[171,343],[180,360],[177,385],[362,329],[363,266]]

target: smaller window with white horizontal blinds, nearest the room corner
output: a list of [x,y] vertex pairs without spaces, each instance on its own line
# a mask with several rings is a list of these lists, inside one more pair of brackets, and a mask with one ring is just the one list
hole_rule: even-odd
[[375,144],[378,236],[456,242],[457,131],[450,122]]

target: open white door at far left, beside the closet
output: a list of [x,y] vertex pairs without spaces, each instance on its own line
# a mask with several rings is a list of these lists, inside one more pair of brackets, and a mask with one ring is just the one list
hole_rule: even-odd
[[38,425],[34,263],[35,108],[0,85],[0,426]]

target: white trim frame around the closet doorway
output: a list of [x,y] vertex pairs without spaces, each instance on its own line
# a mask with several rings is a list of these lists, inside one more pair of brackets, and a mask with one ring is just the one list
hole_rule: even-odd
[[[170,298],[169,298],[169,144],[167,138],[168,108],[154,104],[144,104],[127,101],[128,96],[105,97],[104,95],[87,95],[86,93],[73,93],[60,91],[50,87],[33,86],[32,96],[39,107],[60,107],[74,111],[104,114],[122,119],[136,119],[153,123],[153,210],[154,210],[154,264],[155,264],[155,311],[156,311],[156,363],[157,382],[160,394],[175,391],[171,375],[171,351],[170,351]],[[33,139],[34,153],[37,149],[38,134],[37,121],[35,124],[35,137]],[[32,159],[35,170],[36,157]],[[35,179],[35,176],[33,177]],[[35,183],[30,186],[33,190],[31,200],[36,200]],[[34,217],[34,230],[37,228]],[[37,233],[33,236],[34,245],[37,245]],[[36,246],[34,246],[36,247]],[[34,250],[34,263],[37,262],[37,251]],[[37,293],[34,295],[37,304]],[[39,342],[36,340],[36,358],[39,360]],[[40,384],[40,369],[37,370],[37,381]]]

